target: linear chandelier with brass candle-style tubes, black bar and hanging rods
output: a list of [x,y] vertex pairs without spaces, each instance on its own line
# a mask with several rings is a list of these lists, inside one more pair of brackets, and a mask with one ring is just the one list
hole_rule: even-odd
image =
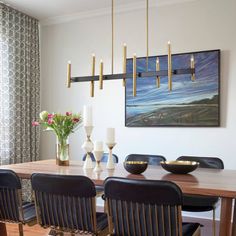
[[168,89],[172,91],[172,76],[175,75],[184,75],[188,74],[191,76],[191,80],[195,80],[195,61],[194,56],[190,57],[190,67],[185,69],[173,69],[172,68],[172,55],[171,55],[171,44],[170,41],[167,43],[168,49],[168,69],[161,70],[159,58],[156,58],[156,70],[149,71],[148,70],[148,57],[149,57],[149,0],[146,0],[146,71],[138,72],[137,71],[137,56],[133,55],[133,73],[126,72],[126,61],[127,61],[127,45],[123,45],[123,72],[114,74],[114,0],[111,0],[111,38],[112,38],[112,47],[111,47],[111,74],[104,75],[103,74],[103,61],[100,62],[100,71],[99,75],[95,75],[95,55],[92,54],[92,71],[90,76],[79,76],[72,77],[71,76],[71,62],[68,61],[67,64],[67,88],[71,87],[71,83],[76,82],[90,82],[90,96],[94,97],[94,83],[95,81],[99,81],[99,89],[103,89],[103,81],[106,80],[123,80],[123,86],[126,86],[126,79],[133,79],[133,96],[136,96],[137,91],[137,78],[140,77],[154,77],[156,78],[157,87],[160,87],[160,79],[163,76],[168,77]]

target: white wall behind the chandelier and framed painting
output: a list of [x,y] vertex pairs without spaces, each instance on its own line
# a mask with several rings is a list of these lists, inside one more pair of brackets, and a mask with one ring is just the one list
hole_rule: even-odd
[[[236,169],[236,1],[196,0],[150,9],[150,54],[166,54],[170,39],[173,52],[221,49],[221,127],[218,128],[126,128],[122,81],[104,83],[90,98],[89,83],[65,86],[66,63],[72,61],[72,75],[89,75],[91,54],[110,72],[110,16],[99,16],[42,27],[42,110],[82,111],[91,104],[94,111],[93,140],[105,140],[106,128],[115,127],[120,160],[129,153],[162,154],[167,159],[180,155],[219,156],[225,168]],[[128,57],[145,56],[145,10],[126,12],[115,18],[115,72],[122,70],[122,44]],[[98,63],[97,63],[98,68]],[[98,70],[97,70],[98,73]],[[84,130],[71,137],[71,158],[81,159]],[[55,155],[55,137],[41,136],[41,158]]]

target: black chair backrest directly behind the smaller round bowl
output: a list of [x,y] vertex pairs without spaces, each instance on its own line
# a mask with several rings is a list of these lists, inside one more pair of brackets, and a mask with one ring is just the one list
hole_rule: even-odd
[[148,165],[160,165],[160,162],[166,161],[166,158],[161,155],[129,154],[125,161],[147,161]]

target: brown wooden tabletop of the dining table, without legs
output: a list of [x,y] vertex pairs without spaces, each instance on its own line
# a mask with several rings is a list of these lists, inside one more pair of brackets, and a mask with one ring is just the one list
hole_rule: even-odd
[[55,160],[43,160],[22,164],[0,166],[1,169],[11,169],[21,178],[30,178],[32,173],[50,173],[64,175],[85,175],[95,184],[102,185],[108,176],[118,176],[131,179],[169,180],[175,182],[184,193],[211,195],[219,197],[236,198],[236,171],[199,168],[191,174],[170,174],[160,166],[148,166],[142,175],[129,174],[122,164],[117,164],[115,170],[94,172],[92,169],[84,170],[83,163],[71,161],[70,166],[58,166]]

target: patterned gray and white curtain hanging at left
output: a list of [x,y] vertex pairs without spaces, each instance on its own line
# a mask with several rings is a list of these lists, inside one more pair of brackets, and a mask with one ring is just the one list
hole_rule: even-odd
[[0,3],[0,164],[39,159],[39,22]]

